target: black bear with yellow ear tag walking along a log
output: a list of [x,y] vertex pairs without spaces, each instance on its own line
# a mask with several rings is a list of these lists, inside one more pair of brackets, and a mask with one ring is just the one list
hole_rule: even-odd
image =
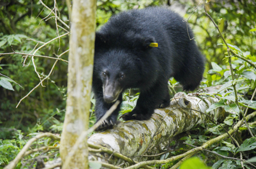
[[[127,88],[139,88],[140,95],[133,111],[122,115],[124,120],[147,120],[154,109],[167,107],[170,77],[184,90],[194,90],[202,80],[204,57],[188,33],[193,37],[183,18],[162,7],[129,10],[111,17],[96,32],[96,119],[116,100],[122,101]],[[97,130],[111,128],[119,111],[120,105]]]

